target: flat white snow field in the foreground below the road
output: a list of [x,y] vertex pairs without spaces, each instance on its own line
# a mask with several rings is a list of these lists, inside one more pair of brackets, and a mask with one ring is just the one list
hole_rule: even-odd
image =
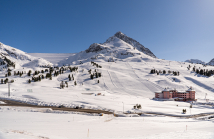
[[[0,107],[2,139],[195,138],[214,137],[212,122],[172,117],[114,117],[44,113],[31,108]],[[164,127],[164,128],[163,128]]]

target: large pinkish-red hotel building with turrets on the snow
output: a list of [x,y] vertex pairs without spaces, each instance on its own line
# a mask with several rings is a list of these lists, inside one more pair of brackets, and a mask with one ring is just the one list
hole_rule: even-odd
[[180,101],[194,101],[195,90],[190,87],[186,91],[177,91],[176,89],[165,88],[161,92],[155,92],[156,99],[180,100]]

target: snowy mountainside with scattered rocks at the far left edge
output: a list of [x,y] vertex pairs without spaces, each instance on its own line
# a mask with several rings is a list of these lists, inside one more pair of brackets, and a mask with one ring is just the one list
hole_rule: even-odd
[[0,43],[0,61],[1,61],[1,70],[3,67],[13,66],[17,67],[26,67],[26,66],[38,66],[38,65],[52,65],[47,60],[42,58],[35,58],[26,54],[25,52]]

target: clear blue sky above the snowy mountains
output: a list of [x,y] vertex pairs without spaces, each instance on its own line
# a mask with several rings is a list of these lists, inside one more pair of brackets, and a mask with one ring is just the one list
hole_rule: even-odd
[[0,42],[75,53],[121,31],[158,58],[214,58],[213,0],[0,0]]

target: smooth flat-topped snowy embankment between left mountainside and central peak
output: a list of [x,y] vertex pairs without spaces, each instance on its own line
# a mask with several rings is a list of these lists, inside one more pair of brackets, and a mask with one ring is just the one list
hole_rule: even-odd
[[59,61],[74,55],[74,53],[27,53],[27,54],[34,57],[43,58],[51,62],[52,64],[57,64]]

